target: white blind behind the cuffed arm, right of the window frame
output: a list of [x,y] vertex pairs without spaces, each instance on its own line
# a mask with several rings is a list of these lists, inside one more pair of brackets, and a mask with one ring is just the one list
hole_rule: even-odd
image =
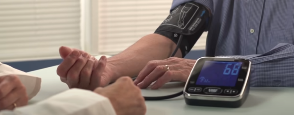
[[[117,54],[153,33],[168,16],[172,0],[98,0],[98,47]],[[206,33],[193,49],[205,49]]]

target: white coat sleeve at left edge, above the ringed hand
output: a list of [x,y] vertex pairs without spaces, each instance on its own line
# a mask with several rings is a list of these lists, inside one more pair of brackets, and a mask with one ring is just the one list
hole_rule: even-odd
[[21,83],[26,87],[26,93],[29,99],[38,94],[41,88],[41,78],[30,75],[24,71],[15,69],[9,65],[0,62],[0,76],[4,75],[17,75]]

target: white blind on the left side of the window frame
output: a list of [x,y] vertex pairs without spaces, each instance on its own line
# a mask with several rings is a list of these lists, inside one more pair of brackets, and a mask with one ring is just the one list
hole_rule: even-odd
[[0,61],[58,58],[80,49],[80,0],[0,0]]

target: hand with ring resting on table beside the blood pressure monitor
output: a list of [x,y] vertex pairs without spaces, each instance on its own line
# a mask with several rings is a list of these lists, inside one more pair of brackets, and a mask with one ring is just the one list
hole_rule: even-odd
[[149,61],[139,73],[134,84],[146,88],[158,89],[170,81],[186,82],[196,60],[171,57],[164,60]]

